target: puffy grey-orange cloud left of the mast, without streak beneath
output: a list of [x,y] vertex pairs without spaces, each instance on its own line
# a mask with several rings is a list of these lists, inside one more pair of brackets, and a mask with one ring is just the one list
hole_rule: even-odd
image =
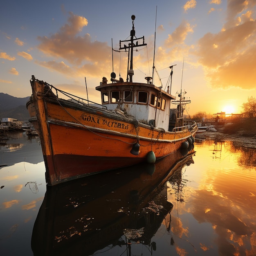
[[110,56],[111,47],[107,43],[93,41],[89,34],[79,36],[88,21],[82,16],[69,13],[68,24],[50,36],[38,37],[41,42],[38,49],[48,56],[63,58],[71,64],[81,65],[84,62],[105,61]]

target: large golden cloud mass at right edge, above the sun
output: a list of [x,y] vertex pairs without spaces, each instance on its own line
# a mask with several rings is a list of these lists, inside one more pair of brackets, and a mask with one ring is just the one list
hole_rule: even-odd
[[208,33],[194,53],[204,67],[209,84],[216,88],[256,85],[256,21],[246,21],[217,34]]

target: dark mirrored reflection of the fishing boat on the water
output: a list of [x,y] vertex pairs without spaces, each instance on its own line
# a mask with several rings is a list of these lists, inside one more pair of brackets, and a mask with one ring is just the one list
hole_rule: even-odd
[[139,164],[47,186],[34,224],[34,255],[91,255],[107,247],[146,245],[169,214],[166,182],[191,161],[176,151],[155,164]]

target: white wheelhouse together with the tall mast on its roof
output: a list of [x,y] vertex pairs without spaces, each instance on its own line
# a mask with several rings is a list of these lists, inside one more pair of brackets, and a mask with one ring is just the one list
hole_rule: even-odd
[[[170,94],[169,88],[167,92],[152,84],[152,77],[145,77],[147,83],[135,83],[132,81],[133,71],[133,48],[144,47],[144,36],[135,37],[134,20],[132,15],[132,30],[130,31],[130,40],[119,42],[119,51],[128,50],[128,67],[126,82],[121,77],[116,79],[116,74],[111,73],[111,82],[107,83],[106,77],[96,87],[101,92],[101,103],[109,110],[121,110],[126,116],[132,116],[137,121],[148,124],[156,128],[169,130],[170,106],[171,100],[175,99]],[[154,66],[154,65],[153,65]],[[171,70],[172,70],[171,66]],[[172,74],[172,72],[171,72]],[[129,77],[129,78],[128,78]],[[120,111],[119,111],[120,112]]]

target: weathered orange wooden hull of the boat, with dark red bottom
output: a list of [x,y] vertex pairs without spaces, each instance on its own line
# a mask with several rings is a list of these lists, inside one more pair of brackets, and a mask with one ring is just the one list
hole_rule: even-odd
[[[40,136],[49,185],[156,159],[181,148],[196,126],[165,132],[113,112],[58,99],[45,84],[31,81],[27,103],[31,123]],[[139,154],[130,150],[139,144]],[[190,145],[193,146],[193,145]]]

